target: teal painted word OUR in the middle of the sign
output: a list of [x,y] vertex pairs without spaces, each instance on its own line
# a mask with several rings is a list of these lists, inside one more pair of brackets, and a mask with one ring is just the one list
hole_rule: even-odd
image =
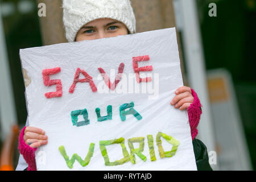
[[[129,110],[126,110],[126,109],[129,109]],[[96,108],[95,111],[97,114],[98,122],[106,121],[108,119],[112,120],[112,105],[109,105],[107,107],[108,115],[105,115],[104,117],[102,117],[100,114],[100,108]],[[142,119],[141,114],[139,114],[134,109],[134,102],[130,102],[129,104],[123,104],[119,107],[119,115],[120,115],[121,121],[125,121],[126,115],[129,115],[129,114],[134,115],[134,117],[137,118],[138,120]],[[79,115],[82,115],[82,117],[84,118],[84,121],[77,122]],[[90,120],[88,119],[88,111],[86,109],[71,111],[71,119],[72,119],[73,126],[79,127],[79,126],[85,126],[90,124]]]

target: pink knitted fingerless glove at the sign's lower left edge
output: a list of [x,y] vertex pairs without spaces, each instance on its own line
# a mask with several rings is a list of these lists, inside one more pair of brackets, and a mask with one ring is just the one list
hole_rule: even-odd
[[35,162],[35,151],[37,148],[30,147],[27,143],[24,142],[24,130],[26,126],[23,127],[22,131],[20,131],[19,135],[19,152],[23,155],[23,158],[26,160],[28,164],[27,171],[36,171],[36,162]]

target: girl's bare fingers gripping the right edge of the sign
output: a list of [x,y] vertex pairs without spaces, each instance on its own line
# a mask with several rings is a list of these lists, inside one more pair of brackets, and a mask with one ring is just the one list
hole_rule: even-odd
[[171,101],[171,105],[180,110],[188,109],[193,103],[194,97],[192,96],[191,88],[188,86],[181,86],[175,91],[176,96]]

